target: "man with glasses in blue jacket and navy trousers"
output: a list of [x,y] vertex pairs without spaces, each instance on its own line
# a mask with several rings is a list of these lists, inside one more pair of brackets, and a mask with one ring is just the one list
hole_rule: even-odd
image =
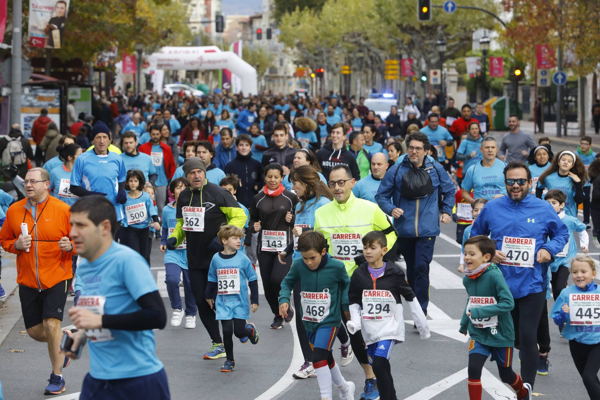
[[[421,132],[406,137],[408,156],[392,166],[383,177],[375,200],[379,207],[394,217],[398,232],[398,251],[406,261],[406,278],[427,315],[429,303],[429,264],[433,246],[440,234],[439,221],[451,221],[456,189],[442,164],[425,158],[430,148],[427,135]],[[431,178],[433,193],[411,199],[402,193],[403,176],[412,168],[425,170]],[[437,202],[442,193],[442,215]]]

